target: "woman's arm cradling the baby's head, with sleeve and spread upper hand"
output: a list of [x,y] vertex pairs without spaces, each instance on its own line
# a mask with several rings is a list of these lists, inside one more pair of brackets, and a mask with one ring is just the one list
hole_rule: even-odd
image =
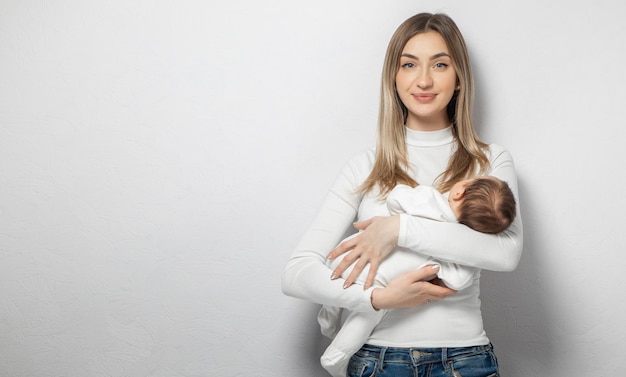
[[353,262],[355,267],[346,279],[352,284],[362,269],[370,264],[365,283],[371,286],[378,265],[397,246],[419,251],[444,261],[494,271],[517,267],[522,253],[523,232],[517,177],[511,155],[498,145],[490,146],[489,175],[509,184],[517,202],[517,216],[511,226],[499,234],[485,234],[461,224],[433,221],[409,215],[374,217],[355,224],[358,237],[333,249],[332,257],[349,252],[334,271],[341,275]]

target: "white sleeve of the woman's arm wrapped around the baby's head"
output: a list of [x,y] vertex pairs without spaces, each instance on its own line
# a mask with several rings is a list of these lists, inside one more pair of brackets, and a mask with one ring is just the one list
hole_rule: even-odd
[[512,271],[522,254],[523,232],[513,158],[505,149],[490,146],[489,175],[509,184],[517,202],[517,216],[498,234],[486,234],[464,225],[400,215],[398,245],[443,261],[493,271]]

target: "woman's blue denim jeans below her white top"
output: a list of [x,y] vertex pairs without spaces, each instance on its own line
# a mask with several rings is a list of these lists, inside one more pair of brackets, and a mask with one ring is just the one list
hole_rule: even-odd
[[364,345],[348,364],[348,377],[497,377],[491,344],[457,348]]

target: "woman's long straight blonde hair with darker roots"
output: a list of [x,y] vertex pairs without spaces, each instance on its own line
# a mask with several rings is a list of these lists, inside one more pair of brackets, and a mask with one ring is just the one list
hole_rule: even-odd
[[381,81],[376,161],[360,187],[362,192],[369,192],[378,186],[381,197],[385,197],[397,184],[412,187],[418,184],[407,173],[405,122],[408,110],[398,96],[395,81],[404,46],[415,35],[427,31],[435,31],[445,40],[459,82],[459,90],[447,109],[457,148],[446,170],[437,177],[436,187],[441,192],[448,191],[454,183],[485,173],[488,168],[489,160],[484,152],[487,145],[478,139],[472,122],[474,79],[463,36],[447,15],[420,13],[398,27],[387,47]]

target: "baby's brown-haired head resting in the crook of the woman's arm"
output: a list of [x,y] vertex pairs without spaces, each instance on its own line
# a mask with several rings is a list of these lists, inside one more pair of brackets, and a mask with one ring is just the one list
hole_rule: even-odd
[[499,233],[515,218],[515,196],[509,185],[484,176],[457,182],[448,197],[459,223],[483,233]]

